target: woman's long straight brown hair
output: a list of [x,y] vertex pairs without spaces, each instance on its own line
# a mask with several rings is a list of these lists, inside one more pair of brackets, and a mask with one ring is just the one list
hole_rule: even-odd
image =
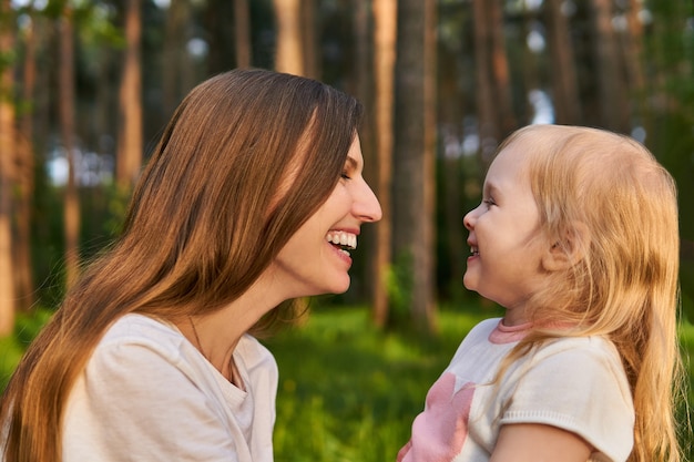
[[[122,236],[16,370],[0,407],[0,459],[60,461],[71,387],[116,319],[175,321],[244,294],[334,189],[360,114],[354,97],[328,85],[264,70],[193,89],[133,193]],[[276,308],[254,332],[286,316]]]

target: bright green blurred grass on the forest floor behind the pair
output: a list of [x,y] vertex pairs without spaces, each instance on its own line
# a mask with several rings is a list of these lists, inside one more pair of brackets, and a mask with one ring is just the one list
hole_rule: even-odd
[[[438,316],[438,335],[381,332],[366,307],[318,306],[302,326],[265,340],[279,366],[277,462],[395,461],[409,440],[429,387],[460,340],[493,309],[470,304]],[[0,339],[3,386],[47,314],[18,319],[12,338]],[[694,403],[694,326],[680,331]],[[692,404],[690,404],[692,407]],[[692,411],[688,411],[691,419]],[[685,420],[686,417],[680,418]],[[694,441],[691,431],[685,448]],[[688,461],[694,458],[688,450]]]

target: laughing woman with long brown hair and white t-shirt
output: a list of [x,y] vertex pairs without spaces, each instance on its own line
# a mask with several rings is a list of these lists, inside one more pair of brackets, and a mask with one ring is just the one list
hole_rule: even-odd
[[195,88],[124,232],[30,346],[2,398],[4,461],[273,460],[277,367],[253,337],[286,300],[349,286],[380,218],[360,105],[236,70]]

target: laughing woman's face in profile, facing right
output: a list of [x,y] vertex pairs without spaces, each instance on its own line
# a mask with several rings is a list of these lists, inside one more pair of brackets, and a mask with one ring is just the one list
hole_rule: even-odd
[[361,176],[364,157],[355,136],[343,177],[328,199],[289,238],[272,269],[289,298],[341,294],[349,288],[349,250],[356,248],[361,224],[378,222],[380,205]]

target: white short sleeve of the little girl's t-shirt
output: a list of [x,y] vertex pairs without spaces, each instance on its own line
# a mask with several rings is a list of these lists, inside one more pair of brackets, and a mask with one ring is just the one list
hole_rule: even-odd
[[500,423],[543,423],[579,434],[602,461],[625,461],[634,409],[624,370],[596,338],[548,345],[516,371],[519,379]]

